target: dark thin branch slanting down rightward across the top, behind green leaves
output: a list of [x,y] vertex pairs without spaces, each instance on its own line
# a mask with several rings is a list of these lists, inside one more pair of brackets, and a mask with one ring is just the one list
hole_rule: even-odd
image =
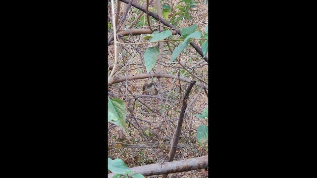
[[[120,0],[120,1],[125,2],[125,3],[129,3],[129,2],[130,2],[130,0]],[[143,6],[141,6],[140,4],[137,4],[137,3],[135,3],[135,2],[132,2],[131,5],[134,6],[134,7],[136,7],[136,8],[138,8],[138,9],[140,9],[140,10],[142,10],[143,12],[146,12],[146,8],[143,7]],[[178,34],[181,35],[181,31],[178,30],[178,28],[176,28],[174,25],[172,25],[172,24],[170,24],[169,22],[167,22],[164,18],[160,18],[159,15],[157,15],[156,13],[153,13],[153,12],[151,12],[151,11],[149,11],[149,15],[151,15],[153,18],[155,18],[155,19],[158,20],[158,21],[160,20],[160,22],[161,22],[162,24],[166,25],[167,27],[170,27],[170,28],[172,28],[172,29],[177,29]],[[109,41],[108,41],[108,45],[110,45]],[[192,46],[197,50],[197,52],[198,52],[202,57],[204,57],[203,50],[202,50],[198,45],[196,45],[196,44],[193,43],[193,42],[191,42],[190,45],[192,45]],[[206,62],[208,62],[208,57],[207,57],[207,56],[205,56],[204,59],[205,59]]]

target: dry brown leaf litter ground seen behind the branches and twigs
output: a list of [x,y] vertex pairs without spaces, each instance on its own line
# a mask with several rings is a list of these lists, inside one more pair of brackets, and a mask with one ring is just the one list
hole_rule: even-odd
[[[179,29],[198,24],[198,30],[204,32],[208,25],[208,5],[205,0],[197,0],[200,3],[196,7],[191,8],[190,19],[184,18],[177,25]],[[134,0],[142,6],[146,6],[142,0]],[[172,8],[176,6],[179,0],[164,0],[163,3],[169,3]],[[184,3],[184,2],[182,2]],[[150,7],[155,7],[155,2],[150,4]],[[122,5],[121,5],[122,6]],[[108,22],[111,21],[111,5],[108,3]],[[134,9],[134,7],[132,7]],[[177,12],[178,9],[174,13]],[[155,11],[156,12],[156,11]],[[140,14],[137,10],[133,12],[130,8],[126,20],[131,21],[133,17]],[[170,18],[169,18],[170,19]],[[128,23],[128,22],[127,22]],[[157,21],[152,18],[152,25],[157,25]],[[145,26],[147,23],[145,22]],[[127,27],[128,25],[125,25]],[[108,36],[111,35],[112,29],[108,30]],[[120,31],[119,31],[120,32]],[[138,36],[127,36],[120,39],[124,43],[142,43],[148,42],[143,37],[148,34]],[[177,36],[178,37],[178,36]],[[178,42],[177,42],[178,43]],[[176,43],[176,44],[177,44]],[[196,44],[200,45],[198,42]],[[153,45],[153,44],[152,44]],[[166,45],[166,44],[165,44]],[[200,45],[201,46],[201,45]],[[118,55],[118,71],[117,76],[130,76],[135,74],[146,73],[144,65],[144,51],[151,47],[151,44],[141,45],[120,45]],[[208,83],[208,64],[202,57],[189,45],[186,51],[187,54],[182,53],[178,58],[180,62],[187,68]],[[184,69],[176,61],[169,64],[171,53],[168,48],[163,57],[162,72],[196,80],[188,72],[184,75]],[[108,65],[112,66],[114,63],[113,45],[108,46]],[[192,68],[192,66],[194,66]],[[157,65],[154,67],[156,69]],[[154,82],[159,91],[155,97],[139,97],[135,99],[135,95],[142,94],[142,85],[145,82]],[[181,85],[181,92],[179,85]],[[178,81],[171,78],[157,78],[138,79],[132,81],[125,81],[116,83],[111,86],[110,91],[115,96],[125,102],[127,111],[127,132],[115,127],[112,123],[108,123],[108,157],[111,159],[120,158],[129,167],[142,166],[147,164],[154,164],[162,162],[165,155],[168,154],[172,135],[177,127],[180,110],[182,107],[182,99],[185,90],[188,87],[187,82]],[[203,110],[208,107],[207,93],[203,90],[198,93],[200,87],[194,86],[188,101],[188,112],[185,115],[181,137],[178,142],[178,148],[174,161],[189,158],[195,158],[208,155],[208,143],[199,145],[196,138],[197,127],[200,125],[208,125],[208,122],[199,119],[194,114],[202,114]],[[130,92],[129,92],[130,91]],[[207,90],[208,91],[208,90]],[[198,94],[198,95],[197,95]],[[196,101],[190,105],[194,98]],[[166,100],[168,98],[168,100]],[[133,114],[131,114],[131,112]],[[165,119],[161,116],[164,115]],[[146,138],[145,138],[146,137]],[[152,146],[152,147],[151,147]],[[154,149],[154,150],[153,150]],[[110,173],[110,172],[108,172]],[[150,176],[147,178],[160,178],[160,176]],[[193,170],[188,172],[169,174],[168,178],[206,178],[205,170]]]

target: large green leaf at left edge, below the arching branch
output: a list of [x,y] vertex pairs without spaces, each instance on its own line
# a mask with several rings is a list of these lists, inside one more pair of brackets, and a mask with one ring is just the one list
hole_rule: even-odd
[[125,104],[118,98],[108,99],[108,122],[125,129]]

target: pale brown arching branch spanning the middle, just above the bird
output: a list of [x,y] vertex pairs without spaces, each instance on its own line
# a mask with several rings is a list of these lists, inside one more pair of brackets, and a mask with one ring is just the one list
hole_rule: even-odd
[[[171,78],[171,79],[178,78],[175,75],[164,74],[164,73],[157,74],[157,73],[151,72],[150,74],[136,74],[136,75],[123,76],[123,77],[120,77],[120,78],[119,77],[111,78],[110,80],[108,80],[108,86],[111,86],[112,84],[115,84],[115,83],[118,83],[118,82],[123,82],[123,81],[126,81],[126,80],[131,81],[131,80],[137,80],[137,79],[147,79],[147,78],[151,78],[152,76],[156,77],[156,78],[160,78],[160,77]],[[185,77],[180,77],[180,80],[184,81],[184,82],[188,82],[188,83],[191,82],[190,79],[187,79]],[[199,87],[204,87],[204,89],[208,89],[208,86],[206,86],[206,85],[204,85],[202,83],[199,83],[199,82],[196,82],[195,85],[199,86]]]

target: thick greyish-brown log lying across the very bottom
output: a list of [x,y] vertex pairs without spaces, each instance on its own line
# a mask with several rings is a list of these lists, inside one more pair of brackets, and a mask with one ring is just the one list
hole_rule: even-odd
[[[145,166],[138,166],[130,168],[135,173],[140,173],[143,176],[162,175],[169,173],[178,173],[184,171],[191,171],[196,169],[208,168],[208,156],[201,156],[198,158],[191,158],[187,160],[157,163]],[[115,174],[108,174],[108,178],[112,178]]]

